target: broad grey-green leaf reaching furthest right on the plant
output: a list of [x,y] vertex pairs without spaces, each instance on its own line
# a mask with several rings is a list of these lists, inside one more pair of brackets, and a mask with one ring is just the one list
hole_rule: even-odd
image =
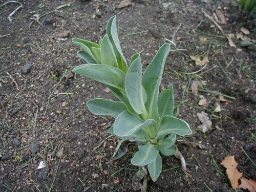
[[185,121],[176,117],[165,115],[160,123],[160,129],[155,139],[159,139],[170,133],[185,136],[191,134],[191,130]]

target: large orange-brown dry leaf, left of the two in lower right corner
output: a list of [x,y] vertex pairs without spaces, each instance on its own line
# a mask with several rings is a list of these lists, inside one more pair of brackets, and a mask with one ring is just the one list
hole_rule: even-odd
[[226,173],[228,179],[231,182],[232,188],[236,189],[238,187],[238,180],[242,177],[242,173],[237,169],[238,163],[234,160],[234,156],[227,156],[221,164],[227,168]]

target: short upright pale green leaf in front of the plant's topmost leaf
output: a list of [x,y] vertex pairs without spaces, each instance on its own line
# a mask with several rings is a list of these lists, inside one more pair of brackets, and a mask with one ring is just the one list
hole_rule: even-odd
[[116,55],[108,35],[105,35],[102,39],[100,55],[101,64],[118,68]]

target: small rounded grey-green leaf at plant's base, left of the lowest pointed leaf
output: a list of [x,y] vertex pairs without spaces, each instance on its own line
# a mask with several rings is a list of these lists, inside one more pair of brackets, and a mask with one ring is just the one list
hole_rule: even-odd
[[133,165],[144,166],[152,163],[157,158],[159,151],[156,150],[156,145],[146,144],[139,145],[139,151],[135,153],[134,157],[131,159]]

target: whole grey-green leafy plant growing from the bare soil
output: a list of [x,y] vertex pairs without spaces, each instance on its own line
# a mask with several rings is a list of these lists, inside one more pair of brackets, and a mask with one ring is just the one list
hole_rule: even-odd
[[115,118],[108,132],[122,141],[138,143],[139,151],[131,162],[137,166],[147,165],[152,180],[156,181],[162,170],[161,155],[175,155],[176,135],[191,133],[189,125],[177,118],[172,84],[159,94],[170,45],[165,43],[160,47],[142,75],[140,54],[132,56],[130,67],[123,56],[116,16],[110,18],[106,35],[99,44],[79,38],[72,41],[82,49],[77,55],[88,63],[74,68],[73,72],[104,83],[121,101],[92,99],[87,102],[89,110]]

